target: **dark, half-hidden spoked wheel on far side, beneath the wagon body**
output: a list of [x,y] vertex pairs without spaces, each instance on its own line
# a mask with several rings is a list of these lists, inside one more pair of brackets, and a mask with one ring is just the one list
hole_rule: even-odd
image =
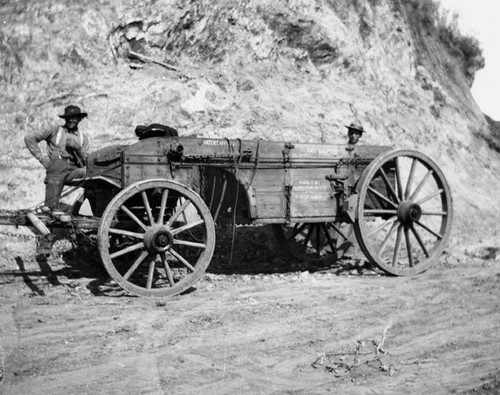
[[352,247],[352,225],[341,222],[273,225],[281,247],[300,262],[313,266],[332,264]]

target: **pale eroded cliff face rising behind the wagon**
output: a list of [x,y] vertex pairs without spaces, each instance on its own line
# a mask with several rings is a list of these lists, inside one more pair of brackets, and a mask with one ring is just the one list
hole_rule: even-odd
[[61,0],[0,12],[0,165],[14,169],[1,206],[41,200],[43,172],[22,138],[73,103],[89,112],[82,128],[94,147],[132,141],[135,125],[152,122],[330,143],[357,118],[364,143],[439,163],[459,227],[500,217],[500,157],[470,81],[416,34],[404,1]]

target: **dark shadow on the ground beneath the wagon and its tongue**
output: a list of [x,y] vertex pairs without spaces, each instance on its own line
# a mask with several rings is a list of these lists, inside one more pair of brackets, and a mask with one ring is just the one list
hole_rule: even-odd
[[[233,229],[228,227],[217,232],[216,249],[207,273],[255,275],[328,271],[336,275],[362,275],[366,270],[372,270],[364,258],[349,255],[352,254],[322,265],[300,262],[283,251],[268,227],[239,228],[234,234]],[[17,256],[15,262],[18,268],[0,274],[21,277],[33,294],[39,296],[45,295],[43,287],[39,286],[40,278],[45,278],[52,286],[65,285],[67,280],[90,279],[86,287],[96,296],[120,296],[123,293],[109,278],[95,245],[71,248],[70,244],[66,244],[62,249],[55,245],[50,257],[39,254],[35,261],[38,268],[28,270],[27,266],[32,267],[32,263],[26,265],[24,258]]]

